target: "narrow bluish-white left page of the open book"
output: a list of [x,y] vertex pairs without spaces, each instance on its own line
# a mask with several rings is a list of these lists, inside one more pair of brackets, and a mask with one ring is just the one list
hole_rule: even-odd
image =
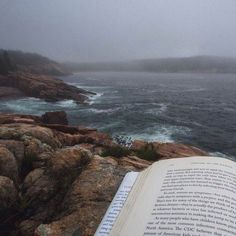
[[125,175],[115,197],[113,198],[105,216],[100,223],[95,236],[107,236],[114,225],[134,183],[138,176],[138,172],[129,172]]

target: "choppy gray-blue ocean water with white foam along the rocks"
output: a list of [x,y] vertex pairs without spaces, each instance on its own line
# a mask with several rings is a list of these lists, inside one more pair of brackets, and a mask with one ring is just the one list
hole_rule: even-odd
[[111,135],[182,142],[236,157],[236,75],[86,72],[62,79],[97,94],[84,105],[23,98],[1,101],[0,110],[65,110],[71,124]]

